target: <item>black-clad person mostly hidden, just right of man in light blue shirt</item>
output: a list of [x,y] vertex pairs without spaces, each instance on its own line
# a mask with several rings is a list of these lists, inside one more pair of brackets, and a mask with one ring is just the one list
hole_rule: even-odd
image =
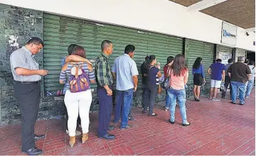
[[147,92],[146,92],[146,74],[149,71],[149,56],[145,57],[145,61],[142,63],[141,66],[142,71],[142,84],[143,84],[143,93],[142,93],[142,109],[144,109],[144,105],[146,103]]

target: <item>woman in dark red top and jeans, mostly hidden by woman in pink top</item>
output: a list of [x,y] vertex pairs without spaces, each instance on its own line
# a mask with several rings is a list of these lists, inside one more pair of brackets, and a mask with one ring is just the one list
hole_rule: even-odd
[[[168,77],[167,73],[170,72],[171,65],[173,64],[173,62],[174,62],[174,57],[172,56],[167,57],[166,65],[164,65],[164,78]],[[165,111],[169,111],[170,104],[171,104],[171,99],[166,90],[166,105],[164,106]]]

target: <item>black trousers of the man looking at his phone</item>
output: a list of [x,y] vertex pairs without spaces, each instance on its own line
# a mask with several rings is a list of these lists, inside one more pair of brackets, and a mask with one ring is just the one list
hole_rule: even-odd
[[34,127],[38,116],[40,94],[40,84],[14,84],[14,96],[21,110],[21,141],[23,151],[36,147]]

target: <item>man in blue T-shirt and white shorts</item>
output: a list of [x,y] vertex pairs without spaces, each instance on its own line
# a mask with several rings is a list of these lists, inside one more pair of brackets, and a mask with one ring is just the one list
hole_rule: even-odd
[[220,59],[217,59],[215,63],[210,65],[207,72],[210,75],[210,96],[208,99],[220,101],[216,96],[221,82],[225,82],[225,65],[221,63]]

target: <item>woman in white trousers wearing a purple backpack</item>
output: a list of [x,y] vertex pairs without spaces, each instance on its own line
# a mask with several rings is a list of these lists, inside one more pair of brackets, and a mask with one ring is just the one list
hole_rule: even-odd
[[[77,45],[72,54],[85,58],[85,49]],[[64,102],[68,111],[69,144],[73,147],[78,114],[81,118],[82,143],[88,139],[89,111],[92,103],[90,82],[95,83],[95,74],[92,66],[85,62],[68,62],[60,72],[60,84],[65,84],[66,77],[68,77],[68,85]]]

